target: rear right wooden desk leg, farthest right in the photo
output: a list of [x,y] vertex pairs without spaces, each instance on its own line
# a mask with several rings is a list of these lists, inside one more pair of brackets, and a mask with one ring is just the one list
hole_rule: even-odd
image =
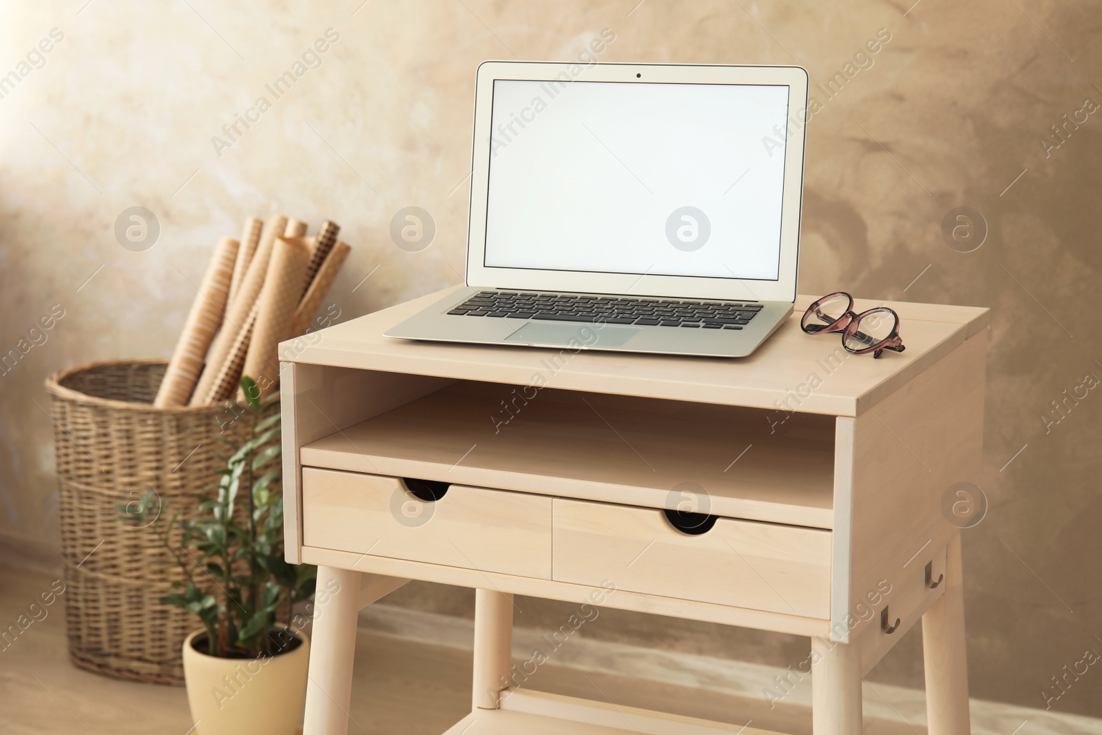
[[926,716],[930,735],[965,735],[972,729],[968,703],[960,533],[949,542],[943,584],[944,594],[922,615]]

